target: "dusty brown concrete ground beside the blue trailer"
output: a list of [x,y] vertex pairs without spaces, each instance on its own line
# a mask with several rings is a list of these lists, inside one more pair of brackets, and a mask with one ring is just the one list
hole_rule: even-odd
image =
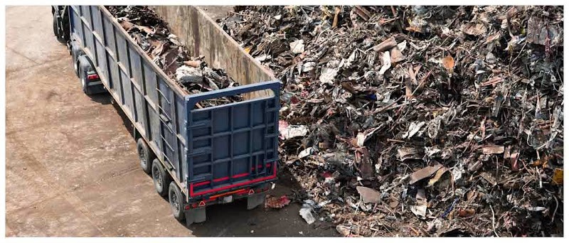
[[[49,6],[6,7],[6,236],[336,236],[299,205],[208,207],[186,228],[139,168],[129,121],[80,90]],[[274,195],[291,193],[285,180]],[[299,234],[302,232],[302,234]]]

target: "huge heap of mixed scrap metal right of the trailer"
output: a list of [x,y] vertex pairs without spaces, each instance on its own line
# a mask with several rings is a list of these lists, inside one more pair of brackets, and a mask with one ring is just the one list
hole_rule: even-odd
[[237,6],[280,158],[345,236],[563,235],[563,7]]

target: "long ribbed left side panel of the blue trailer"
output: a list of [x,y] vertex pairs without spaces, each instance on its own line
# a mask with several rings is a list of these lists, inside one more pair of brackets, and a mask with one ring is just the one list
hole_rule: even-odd
[[85,51],[102,83],[184,188],[186,163],[184,92],[151,63],[101,6],[71,6],[72,40]]

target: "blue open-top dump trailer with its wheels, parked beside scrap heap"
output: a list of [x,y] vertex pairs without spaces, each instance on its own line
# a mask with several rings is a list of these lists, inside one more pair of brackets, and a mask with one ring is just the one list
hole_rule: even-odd
[[[140,166],[152,176],[156,192],[168,197],[177,220],[203,222],[206,206],[240,198],[248,200],[249,209],[264,202],[277,178],[279,81],[247,79],[262,77],[258,73],[265,70],[230,42],[208,63],[231,63],[225,59],[243,55],[235,62],[257,75],[233,77],[245,85],[190,95],[149,59],[104,6],[53,6],[52,11],[53,33],[68,46],[83,92],[108,92],[132,122]],[[192,34],[213,41],[202,37],[191,49],[207,57],[199,46],[218,45],[218,38],[228,41],[228,36],[205,13],[190,12],[198,16],[188,20],[202,22],[188,25],[205,26]],[[246,98],[195,108],[202,100],[231,95]]]

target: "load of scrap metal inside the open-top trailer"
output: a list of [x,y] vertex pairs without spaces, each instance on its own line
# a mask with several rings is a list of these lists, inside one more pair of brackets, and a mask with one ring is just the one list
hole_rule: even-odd
[[[170,33],[167,24],[147,6],[107,6],[151,60],[189,94],[237,86],[220,68],[209,68],[203,57],[192,58],[188,48]],[[241,101],[240,96],[199,102],[198,108]]]

